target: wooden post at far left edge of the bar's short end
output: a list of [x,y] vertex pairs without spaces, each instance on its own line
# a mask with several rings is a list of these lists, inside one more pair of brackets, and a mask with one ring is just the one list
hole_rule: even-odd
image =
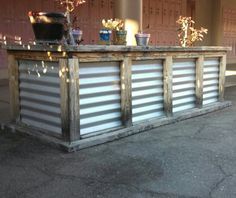
[[20,120],[19,68],[13,55],[8,55],[10,117],[12,122]]

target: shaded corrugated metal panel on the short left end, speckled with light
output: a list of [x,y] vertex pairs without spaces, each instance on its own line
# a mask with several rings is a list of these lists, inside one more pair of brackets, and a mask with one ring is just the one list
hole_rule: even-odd
[[22,60],[19,72],[21,122],[61,134],[58,63]]

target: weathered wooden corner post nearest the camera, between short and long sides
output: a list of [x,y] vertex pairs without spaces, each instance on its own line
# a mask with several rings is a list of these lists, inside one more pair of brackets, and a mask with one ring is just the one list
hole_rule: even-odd
[[80,139],[79,60],[60,59],[59,67],[62,133],[73,142]]

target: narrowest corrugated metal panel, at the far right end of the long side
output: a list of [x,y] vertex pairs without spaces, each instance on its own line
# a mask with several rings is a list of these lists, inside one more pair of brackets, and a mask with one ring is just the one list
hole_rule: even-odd
[[219,97],[219,58],[207,58],[203,67],[203,105],[218,101]]

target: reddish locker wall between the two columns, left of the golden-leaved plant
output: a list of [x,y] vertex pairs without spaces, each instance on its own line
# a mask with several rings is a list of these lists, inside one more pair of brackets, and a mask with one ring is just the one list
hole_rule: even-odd
[[186,0],[143,1],[143,28],[150,33],[150,45],[176,45],[176,20],[184,15]]

